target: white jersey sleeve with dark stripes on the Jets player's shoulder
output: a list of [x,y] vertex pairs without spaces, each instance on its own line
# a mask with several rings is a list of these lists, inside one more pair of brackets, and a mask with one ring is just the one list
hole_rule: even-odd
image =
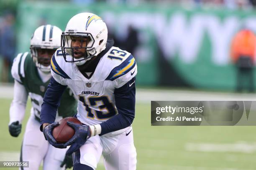
[[11,73],[14,80],[16,80],[21,84],[23,84],[22,80],[25,77],[24,65],[25,65],[25,59],[27,55],[28,55],[28,52],[19,53],[17,57],[14,58],[13,66],[11,69]]

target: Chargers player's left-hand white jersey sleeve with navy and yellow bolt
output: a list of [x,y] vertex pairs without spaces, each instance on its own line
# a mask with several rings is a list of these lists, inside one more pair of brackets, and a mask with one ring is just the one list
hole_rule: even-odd
[[59,82],[61,85],[67,85],[66,79],[70,79],[70,77],[61,69],[61,56],[59,56],[59,50],[56,50],[54,55],[51,58],[51,75],[54,77],[56,82]]

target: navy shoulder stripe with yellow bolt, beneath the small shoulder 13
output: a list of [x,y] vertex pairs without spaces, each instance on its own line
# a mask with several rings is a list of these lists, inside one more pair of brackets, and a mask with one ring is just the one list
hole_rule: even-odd
[[115,67],[105,80],[113,81],[127,72],[131,71],[136,65],[133,55],[130,55],[124,62]]

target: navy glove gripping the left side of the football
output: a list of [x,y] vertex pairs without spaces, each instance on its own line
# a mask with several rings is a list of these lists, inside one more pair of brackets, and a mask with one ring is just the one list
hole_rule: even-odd
[[53,135],[52,135],[52,131],[53,129],[59,126],[59,122],[54,122],[50,125],[47,125],[44,128],[44,137],[46,138],[46,140],[48,140],[48,142],[53,145],[55,148],[67,148],[67,146],[65,147],[63,143],[58,144],[56,142],[56,140],[54,139]]

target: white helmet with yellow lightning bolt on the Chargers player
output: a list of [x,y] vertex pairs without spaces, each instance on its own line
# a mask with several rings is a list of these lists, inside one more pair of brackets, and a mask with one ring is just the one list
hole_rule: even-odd
[[[72,47],[72,37],[88,38],[86,47]],[[79,13],[67,23],[66,30],[61,35],[61,50],[66,62],[84,64],[91,57],[105,50],[108,39],[108,28],[105,22],[93,13]],[[82,42],[81,42],[82,44]],[[74,49],[84,49],[83,57],[74,58]],[[66,52],[72,56],[67,59]]]

